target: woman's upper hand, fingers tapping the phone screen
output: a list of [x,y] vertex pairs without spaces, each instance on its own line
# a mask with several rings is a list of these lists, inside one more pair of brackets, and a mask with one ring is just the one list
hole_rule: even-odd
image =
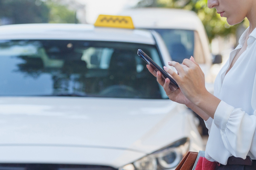
[[182,64],[171,61],[169,65],[175,67],[178,74],[167,67],[164,67],[165,71],[175,79],[186,98],[198,105],[204,94],[208,93],[205,88],[204,73],[198,63],[191,56],[190,59],[184,59]]

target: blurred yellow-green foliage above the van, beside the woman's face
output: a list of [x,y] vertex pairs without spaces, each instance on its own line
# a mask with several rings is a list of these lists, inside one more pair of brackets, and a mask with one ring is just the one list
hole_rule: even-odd
[[[215,8],[208,8],[207,0],[141,0],[137,7],[181,8],[195,11],[204,24],[209,42],[216,36],[236,34],[236,29],[239,27],[239,24],[230,26],[226,18],[217,14]],[[247,19],[241,24],[244,24],[244,27],[249,26]]]

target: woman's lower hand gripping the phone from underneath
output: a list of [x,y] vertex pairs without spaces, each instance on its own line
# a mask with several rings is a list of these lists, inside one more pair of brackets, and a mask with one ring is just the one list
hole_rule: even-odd
[[168,78],[163,79],[162,73],[160,71],[155,71],[150,65],[147,65],[147,68],[148,68],[148,71],[154,75],[154,77],[157,77],[157,82],[161,86],[163,86],[163,89],[170,100],[177,103],[184,104],[188,107],[192,105],[192,102],[190,102],[189,99],[187,99],[186,96],[184,96],[180,88],[178,88],[175,91],[171,91],[171,89],[169,88],[169,84],[171,81]]

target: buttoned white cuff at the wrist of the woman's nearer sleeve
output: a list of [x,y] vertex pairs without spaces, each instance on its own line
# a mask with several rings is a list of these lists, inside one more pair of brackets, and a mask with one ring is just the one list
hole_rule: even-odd
[[224,131],[226,129],[227,122],[233,109],[233,106],[228,105],[222,100],[219,103],[214,114],[214,123],[220,130]]

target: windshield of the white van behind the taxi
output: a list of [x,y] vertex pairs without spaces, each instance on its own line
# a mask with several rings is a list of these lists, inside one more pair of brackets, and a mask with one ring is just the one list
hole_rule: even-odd
[[204,52],[201,41],[196,31],[182,29],[154,29],[157,31],[169,50],[172,60],[183,62],[183,59],[189,59],[193,56],[196,62],[202,64]]

